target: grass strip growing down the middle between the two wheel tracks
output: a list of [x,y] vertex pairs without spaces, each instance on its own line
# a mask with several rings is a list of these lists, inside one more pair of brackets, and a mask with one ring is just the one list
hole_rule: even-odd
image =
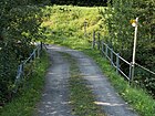
[[78,116],[105,116],[100,107],[94,104],[94,96],[91,88],[86,86],[86,82],[80,75],[76,61],[69,54],[64,54],[70,61],[70,98],[72,105],[72,112]]

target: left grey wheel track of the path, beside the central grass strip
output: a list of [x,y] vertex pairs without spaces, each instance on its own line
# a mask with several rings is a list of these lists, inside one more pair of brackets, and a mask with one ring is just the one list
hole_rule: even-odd
[[49,50],[51,66],[35,116],[72,116],[69,106],[69,62],[55,50]]

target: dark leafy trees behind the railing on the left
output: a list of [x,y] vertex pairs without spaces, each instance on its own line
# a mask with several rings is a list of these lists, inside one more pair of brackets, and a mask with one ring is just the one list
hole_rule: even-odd
[[31,0],[0,1],[0,106],[11,98],[18,64],[39,39],[41,9]]

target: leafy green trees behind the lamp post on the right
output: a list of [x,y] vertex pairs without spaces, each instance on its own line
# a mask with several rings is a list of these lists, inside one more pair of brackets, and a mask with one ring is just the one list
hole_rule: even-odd
[[[108,33],[104,40],[128,62],[132,62],[134,28],[131,20],[138,18],[136,63],[155,72],[155,1],[113,0],[105,13],[101,11]],[[122,63],[124,71],[127,65]],[[135,67],[134,81],[155,95],[155,75]]]

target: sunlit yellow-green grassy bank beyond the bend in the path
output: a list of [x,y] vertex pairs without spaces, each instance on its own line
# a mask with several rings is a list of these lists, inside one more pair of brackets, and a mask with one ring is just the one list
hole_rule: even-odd
[[[72,48],[87,48],[92,39],[93,31],[102,31],[102,35],[106,34],[105,27],[102,27],[103,18],[100,10],[104,8],[86,8],[72,6],[54,6],[46,7],[44,12],[49,14],[49,20],[45,19],[42,27],[48,28],[48,42],[71,46]],[[84,21],[86,20],[86,35],[84,36]]]

